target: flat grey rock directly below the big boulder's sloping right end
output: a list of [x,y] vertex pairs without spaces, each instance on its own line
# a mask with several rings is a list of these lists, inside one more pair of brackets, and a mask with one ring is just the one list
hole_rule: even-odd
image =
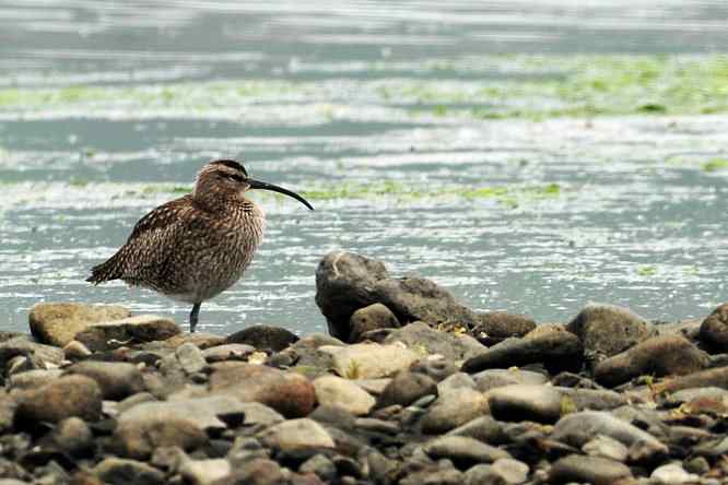
[[401,342],[424,356],[442,355],[446,360],[462,360],[488,350],[470,335],[433,330],[426,323],[415,321],[399,330],[392,330],[385,344]]

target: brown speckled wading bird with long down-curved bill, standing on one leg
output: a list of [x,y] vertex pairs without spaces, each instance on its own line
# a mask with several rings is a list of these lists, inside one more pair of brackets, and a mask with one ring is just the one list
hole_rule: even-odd
[[254,189],[283,193],[314,210],[296,192],[250,178],[240,163],[215,159],[198,171],[191,193],[139,220],[126,244],[93,267],[86,281],[121,280],[191,304],[193,333],[202,303],[243,276],[262,241],[265,213],[246,197]]

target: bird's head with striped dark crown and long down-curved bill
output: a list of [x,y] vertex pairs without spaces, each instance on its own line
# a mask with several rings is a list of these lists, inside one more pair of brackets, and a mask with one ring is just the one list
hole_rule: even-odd
[[250,178],[245,167],[233,159],[216,159],[203,166],[197,174],[192,196],[198,200],[243,200],[245,192],[253,189],[283,193],[314,210],[308,201],[296,192]]

